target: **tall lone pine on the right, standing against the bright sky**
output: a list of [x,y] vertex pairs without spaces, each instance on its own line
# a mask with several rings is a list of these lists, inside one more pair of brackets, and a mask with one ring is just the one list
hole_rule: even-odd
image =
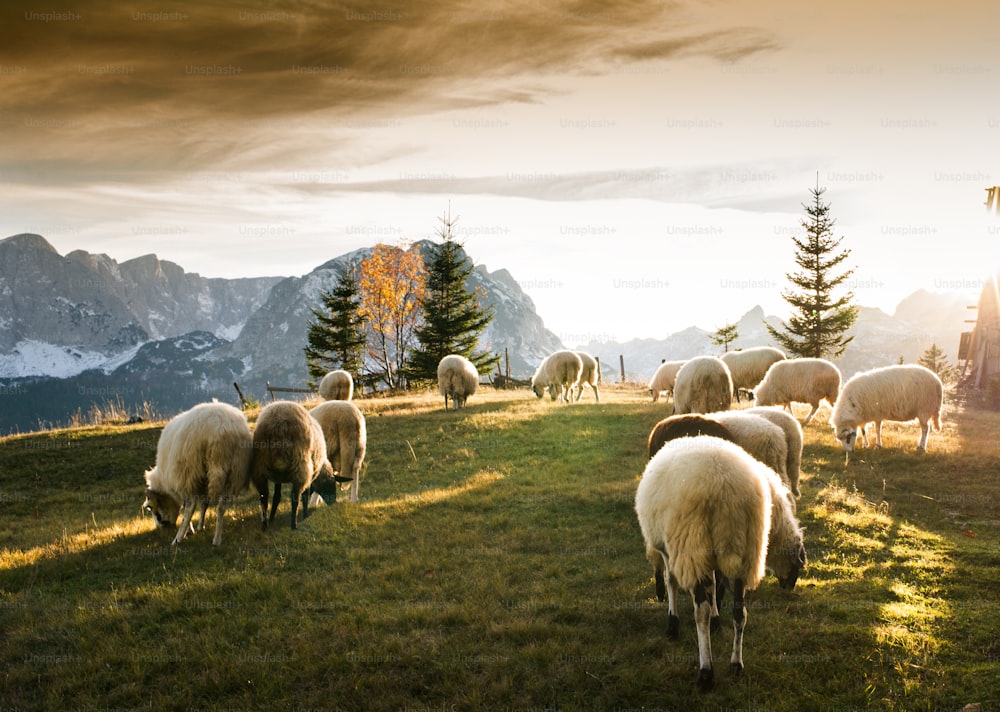
[[782,323],[783,329],[766,326],[771,337],[793,356],[837,358],[854,338],[845,334],[858,318],[858,308],[851,304],[854,294],[848,291],[839,298],[833,296],[834,290],[854,272],[849,269],[833,273],[851,251],[837,252],[843,238],[833,236],[835,221],[829,217],[830,205],[821,200],[826,189],[817,185],[810,192],[812,205],[802,206],[809,216],[802,221],[806,237],[792,238],[799,271],[785,275],[797,289],[781,293],[795,313],[787,324]]

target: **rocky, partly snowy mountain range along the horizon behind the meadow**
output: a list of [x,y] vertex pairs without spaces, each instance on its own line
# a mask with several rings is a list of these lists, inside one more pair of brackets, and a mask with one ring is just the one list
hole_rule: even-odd
[[[305,387],[310,307],[370,251],[341,255],[300,277],[209,279],[155,255],[119,263],[82,250],[62,256],[40,235],[0,240],[0,435],[63,423],[105,402],[130,411],[152,404],[171,415],[213,397],[236,401],[234,382],[259,401],[268,382]],[[564,346],[507,270],[477,265],[467,286],[495,307],[480,347],[506,353],[515,377],[530,376],[565,346],[599,356],[605,380],[619,379],[621,358],[626,379],[640,382],[663,359],[720,351],[696,327],[662,339]],[[899,358],[913,362],[931,343],[954,361],[968,328],[967,302],[921,291],[891,316],[863,307],[838,366],[847,376]],[[765,320],[780,323],[760,307],[749,309],[730,348],[770,344]]]

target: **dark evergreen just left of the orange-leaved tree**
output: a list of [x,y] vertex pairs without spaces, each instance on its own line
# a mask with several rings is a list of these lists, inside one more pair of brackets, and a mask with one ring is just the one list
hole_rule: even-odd
[[305,354],[309,375],[318,381],[342,368],[357,380],[364,357],[365,329],[354,267],[345,267],[333,289],[322,292],[320,299],[320,309],[310,308],[316,321],[308,323]]

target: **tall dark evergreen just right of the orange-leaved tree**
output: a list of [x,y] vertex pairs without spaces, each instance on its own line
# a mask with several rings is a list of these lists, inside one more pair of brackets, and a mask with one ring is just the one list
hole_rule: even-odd
[[410,376],[416,380],[437,378],[438,363],[448,354],[465,356],[480,373],[489,372],[499,356],[476,352],[479,337],[493,320],[492,306],[483,307],[479,295],[466,283],[472,274],[472,260],[455,241],[451,214],[439,218],[439,244],[426,256],[426,294],[422,303],[423,323],[417,329],[420,345],[410,356]]

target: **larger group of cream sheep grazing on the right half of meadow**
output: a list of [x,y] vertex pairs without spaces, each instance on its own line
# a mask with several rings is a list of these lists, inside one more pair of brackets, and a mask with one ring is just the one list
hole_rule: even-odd
[[[766,568],[790,590],[806,564],[795,518],[802,426],[786,409],[808,403],[802,424],[808,425],[821,401],[831,404],[830,423],[847,459],[859,432],[867,446],[868,423],[881,447],[884,420],[919,421],[917,449],[924,452],[930,424],[941,429],[944,388],[935,373],[916,365],[859,373],[841,387],[833,363],[787,359],[770,347],[664,362],[649,387],[654,401],[672,391],[674,415],[649,434],[635,510],[657,596],[662,601],[667,594],[668,636],[677,637],[678,587],[694,600],[704,690],[713,684],[710,633],[725,590],[734,598],[730,667],[740,674],[744,592],[757,587]],[[741,390],[753,391],[754,407],[730,411]]]

